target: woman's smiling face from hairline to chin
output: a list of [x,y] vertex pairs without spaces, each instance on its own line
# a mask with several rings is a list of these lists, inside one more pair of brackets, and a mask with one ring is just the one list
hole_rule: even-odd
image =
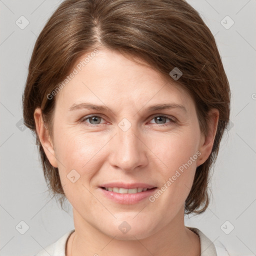
[[[53,137],[41,142],[77,221],[141,239],[183,218],[213,142],[201,135],[192,98],[171,77],[106,48],[76,69],[56,95]],[[127,190],[134,186],[148,189]]]

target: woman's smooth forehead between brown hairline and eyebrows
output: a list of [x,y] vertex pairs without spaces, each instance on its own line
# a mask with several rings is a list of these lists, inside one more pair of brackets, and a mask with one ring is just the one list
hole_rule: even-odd
[[71,71],[75,74],[56,95],[57,105],[70,107],[75,102],[93,101],[140,108],[147,103],[174,102],[191,107],[191,98],[184,89],[148,65],[105,48],[85,62],[88,54],[77,59]]

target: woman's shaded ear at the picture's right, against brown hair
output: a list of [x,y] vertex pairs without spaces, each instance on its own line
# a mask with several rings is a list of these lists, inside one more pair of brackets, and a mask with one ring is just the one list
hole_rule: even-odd
[[198,157],[196,166],[199,166],[202,163],[204,163],[211,153],[214,138],[217,131],[218,117],[219,111],[216,108],[212,108],[209,110],[207,118],[207,135],[201,135],[200,145],[198,148],[198,151],[201,152],[201,155],[200,157]]

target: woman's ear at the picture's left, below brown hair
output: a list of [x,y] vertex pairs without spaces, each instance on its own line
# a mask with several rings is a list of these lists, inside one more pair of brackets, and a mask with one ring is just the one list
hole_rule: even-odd
[[36,133],[38,134],[43,150],[50,164],[53,167],[57,167],[57,160],[55,156],[54,146],[50,138],[49,131],[45,127],[45,124],[43,122],[41,108],[39,107],[37,107],[34,110],[34,120],[35,120],[35,126],[36,126]]

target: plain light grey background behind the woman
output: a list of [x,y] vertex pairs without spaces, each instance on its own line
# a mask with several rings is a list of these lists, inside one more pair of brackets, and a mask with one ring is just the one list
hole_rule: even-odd
[[[21,95],[37,35],[61,1],[0,0],[0,255],[33,255],[73,228],[47,193],[35,139],[22,127]],[[231,255],[256,253],[255,0],[188,0],[215,36],[231,87],[231,128],[212,172],[213,199],[205,213],[185,218]],[[23,15],[29,24],[15,21]],[[234,24],[226,29],[228,15]],[[226,20],[226,21],[225,21]],[[231,24],[224,19],[225,26]],[[25,24],[23,19],[22,24]],[[21,24],[20,24],[21,25]],[[230,231],[226,234],[224,229]],[[28,230],[24,231],[25,224]],[[18,228],[19,226],[20,228]],[[222,228],[221,228],[222,226]],[[22,230],[23,229],[23,230]]]

